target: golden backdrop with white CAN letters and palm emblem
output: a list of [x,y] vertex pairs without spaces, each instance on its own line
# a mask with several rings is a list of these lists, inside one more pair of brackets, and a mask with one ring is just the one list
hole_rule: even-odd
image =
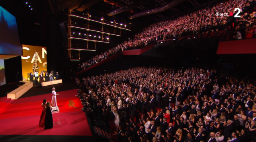
[[[22,64],[22,79],[27,81],[29,74],[34,71],[35,59],[37,59],[37,69],[35,71],[46,72],[47,71],[47,52],[46,47],[43,46],[31,46],[31,45],[22,45],[23,56],[21,56]],[[36,57],[36,52],[38,56]]]

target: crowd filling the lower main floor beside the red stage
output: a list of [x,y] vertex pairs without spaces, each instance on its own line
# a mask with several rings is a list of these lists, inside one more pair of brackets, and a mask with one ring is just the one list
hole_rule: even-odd
[[115,124],[111,142],[256,140],[256,81],[247,77],[134,67],[76,83],[84,111],[98,114],[107,127]]

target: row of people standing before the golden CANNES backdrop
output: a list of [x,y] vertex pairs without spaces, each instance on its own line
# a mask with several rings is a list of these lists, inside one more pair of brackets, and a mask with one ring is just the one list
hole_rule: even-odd
[[38,71],[35,71],[35,73],[33,74],[32,72],[30,73],[30,81],[33,81],[33,78],[35,77],[35,81],[37,81],[37,79],[39,78],[40,83],[43,82],[43,78],[45,78],[45,81],[53,81],[53,77],[56,77],[56,80],[59,79],[59,73],[56,72],[56,74],[54,75],[53,71],[51,71],[51,73],[49,74],[48,71],[46,71],[46,73],[44,74],[43,71],[41,71],[41,73],[39,74]]

